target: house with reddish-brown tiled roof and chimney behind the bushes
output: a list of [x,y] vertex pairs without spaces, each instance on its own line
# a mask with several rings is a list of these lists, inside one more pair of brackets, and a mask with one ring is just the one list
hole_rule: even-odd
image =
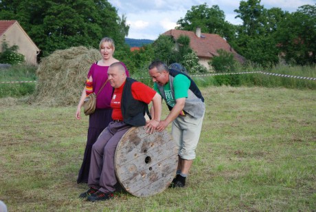
[[185,30],[168,30],[163,35],[172,36],[177,40],[180,35],[185,35],[190,38],[190,47],[199,57],[199,63],[207,67],[208,62],[212,60],[213,56],[218,56],[217,50],[225,50],[234,54],[234,59],[240,63],[245,63],[245,58],[235,52],[235,50],[218,34],[201,33],[201,28],[196,28],[196,32]]

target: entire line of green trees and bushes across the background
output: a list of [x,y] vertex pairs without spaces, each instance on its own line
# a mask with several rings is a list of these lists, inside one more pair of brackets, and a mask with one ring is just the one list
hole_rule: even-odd
[[[119,17],[106,0],[1,0],[0,11],[0,19],[19,21],[41,49],[41,56],[78,45],[98,48],[98,41],[110,36],[116,44],[115,57],[128,64],[132,73],[142,70],[153,59],[191,67],[197,63],[190,39],[185,36],[177,40],[177,50],[175,41],[161,35],[139,52],[130,52],[124,43],[129,30],[127,17]],[[264,8],[260,0],[248,0],[240,1],[234,11],[242,20],[241,25],[225,21],[225,13],[216,5],[192,6],[177,21],[177,29],[195,31],[200,27],[202,33],[219,34],[238,54],[262,67],[280,62],[315,65],[316,4],[301,6],[290,13],[281,8]],[[197,66],[194,70],[205,71]]]

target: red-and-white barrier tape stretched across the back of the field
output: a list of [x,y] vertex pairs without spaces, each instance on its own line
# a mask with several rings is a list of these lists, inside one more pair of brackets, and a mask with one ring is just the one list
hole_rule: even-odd
[[[298,79],[306,79],[311,81],[316,81],[314,77],[307,77],[307,76],[293,76],[287,74],[275,74],[269,72],[236,72],[236,73],[214,73],[214,74],[196,74],[190,76],[215,76],[215,75],[232,75],[232,74],[265,74],[271,76],[281,76],[281,77],[289,77],[289,78],[298,78]],[[135,77],[135,79],[142,79],[142,78],[150,78],[150,77]],[[11,82],[0,82],[0,83],[36,83],[36,81],[11,81]]]

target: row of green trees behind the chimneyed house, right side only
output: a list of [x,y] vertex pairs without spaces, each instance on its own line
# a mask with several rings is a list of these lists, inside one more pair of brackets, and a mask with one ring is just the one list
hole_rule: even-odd
[[290,13],[281,8],[268,10],[260,0],[248,0],[240,1],[234,12],[242,25],[225,21],[218,6],[192,6],[177,22],[178,29],[193,31],[200,26],[204,33],[219,34],[238,54],[264,67],[279,63],[280,55],[286,63],[316,63],[316,4],[301,6]]

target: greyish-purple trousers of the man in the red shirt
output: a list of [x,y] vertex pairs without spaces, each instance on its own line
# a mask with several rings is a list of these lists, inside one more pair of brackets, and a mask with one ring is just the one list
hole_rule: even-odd
[[122,136],[130,128],[131,125],[112,121],[102,131],[92,146],[89,187],[95,187],[104,193],[115,191],[115,184],[117,183],[114,167],[115,149]]

